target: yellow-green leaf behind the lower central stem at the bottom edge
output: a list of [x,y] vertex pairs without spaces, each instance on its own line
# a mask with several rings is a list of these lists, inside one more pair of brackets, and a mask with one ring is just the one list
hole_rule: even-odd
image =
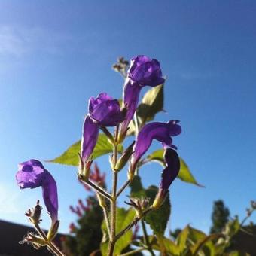
[[[119,233],[128,224],[130,224],[133,221],[134,217],[135,217],[135,211],[133,209],[126,210],[123,208],[117,208],[116,233]],[[108,232],[105,226],[105,221],[102,224],[102,232],[103,234],[106,234]],[[120,239],[117,240],[114,247],[114,255],[120,254],[124,248],[130,245],[130,243],[132,242],[132,236],[133,236],[132,230],[129,230],[123,236],[121,236]],[[103,256],[107,255],[108,239],[105,239],[105,241],[102,242],[102,244],[100,245],[100,250]]]

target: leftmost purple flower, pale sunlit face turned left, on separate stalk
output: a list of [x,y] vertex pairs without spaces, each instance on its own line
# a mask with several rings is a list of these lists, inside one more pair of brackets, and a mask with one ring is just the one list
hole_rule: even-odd
[[17,184],[21,189],[42,187],[44,204],[53,223],[58,219],[58,194],[56,182],[42,163],[31,159],[18,165]]

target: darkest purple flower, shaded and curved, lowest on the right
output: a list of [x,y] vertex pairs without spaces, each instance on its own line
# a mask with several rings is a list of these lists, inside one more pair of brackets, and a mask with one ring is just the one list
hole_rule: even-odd
[[153,207],[157,209],[163,203],[163,200],[166,197],[169,186],[172,184],[172,181],[178,176],[180,170],[180,160],[177,152],[172,148],[166,148],[164,153],[164,160],[166,163],[166,168],[163,169],[161,180],[158,188],[157,196],[155,197]]

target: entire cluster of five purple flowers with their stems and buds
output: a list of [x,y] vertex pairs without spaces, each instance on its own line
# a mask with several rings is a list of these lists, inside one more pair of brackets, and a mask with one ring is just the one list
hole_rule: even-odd
[[[129,129],[130,122],[136,114],[136,109],[139,102],[139,94],[143,87],[156,87],[165,82],[162,71],[160,69],[160,63],[157,59],[151,59],[148,56],[135,56],[130,61],[130,67],[127,69],[128,62],[124,59],[119,59],[114,69],[117,72],[121,72],[125,77],[123,87],[123,101],[122,105],[117,99],[113,99],[107,93],[100,93],[96,98],[91,97],[89,99],[88,111],[84,118],[82,138],[81,138],[81,152],[79,154],[80,162],[78,169],[78,178],[86,184],[87,189],[96,190],[96,197],[99,201],[99,206],[102,207],[105,214],[106,226],[110,237],[110,249],[109,255],[112,255],[114,251],[114,243],[117,237],[114,237],[115,233],[115,218],[116,215],[113,211],[116,211],[117,197],[123,191],[123,189],[130,184],[136,174],[136,168],[142,163],[143,155],[148,151],[153,140],[161,142],[164,149],[163,160],[165,168],[163,169],[160,179],[160,185],[157,196],[154,199],[154,203],[149,206],[149,199],[130,199],[130,206],[136,210],[136,218],[139,219],[145,216],[145,212],[149,209],[158,209],[163,200],[165,200],[169,186],[172,181],[177,177],[180,169],[180,161],[176,152],[177,148],[172,143],[172,137],[178,136],[181,133],[181,126],[178,120],[169,120],[167,123],[152,122],[140,126],[137,131],[136,141],[133,142],[126,151],[118,159],[118,145],[122,144],[126,138],[127,130]],[[112,135],[107,127],[116,126],[114,135]],[[94,168],[94,172],[91,170],[93,163],[93,150],[96,147],[96,143],[99,138],[99,130],[102,130],[108,137],[109,142],[113,146],[113,154],[111,156],[111,168],[113,170],[114,186],[111,194],[106,191],[105,175],[101,175],[97,166]],[[128,181],[126,184],[117,191],[117,172],[129,163],[128,169]],[[20,188],[35,188],[41,187],[43,191],[44,204],[50,213],[52,219],[53,234],[50,234],[45,238],[43,236],[45,245],[51,246],[50,248],[56,251],[54,245],[50,243],[50,238],[54,236],[58,228],[58,197],[56,182],[50,172],[44,168],[42,163],[38,160],[29,160],[24,163],[20,163],[19,169],[16,175],[17,183]],[[87,186],[89,185],[89,186]],[[106,203],[105,200],[109,200]],[[111,217],[112,224],[108,224],[108,216],[106,209],[108,205],[111,205]],[[82,200],[78,201],[78,206],[71,206],[72,212],[81,217],[84,212],[90,209],[89,203],[84,205]],[[34,224],[38,224],[40,220],[41,206],[37,204],[35,209],[27,212],[27,216]],[[134,223],[136,224],[136,221]],[[129,228],[132,226],[129,226]],[[71,230],[75,230],[75,225],[71,225]],[[112,229],[112,230],[111,230]],[[123,231],[124,232],[124,231]],[[39,232],[40,233],[40,232]],[[50,238],[49,238],[50,237]],[[29,236],[28,239],[38,239],[38,237]],[[40,238],[41,239],[41,238]],[[46,239],[46,240],[45,240]],[[39,240],[38,240],[39,241]],[[40,244],[35,242],[35,244]]]

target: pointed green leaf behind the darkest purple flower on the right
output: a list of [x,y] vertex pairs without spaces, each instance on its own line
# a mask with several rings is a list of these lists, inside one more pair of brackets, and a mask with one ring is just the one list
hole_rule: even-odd
[[[147,157],[148,161],[156,161],[157,163],[160,163],[162,166],[165,166],[163,161],[163,149],[159,149],[157,151],[154,151],[152,154],[149,154]],[[189,167],[187,166],[187,163],[180,157],[181,162],[181,169],[178,172],[178,178],[181,179],[181,181],[195,184],[197,186],[203,187],[200,185],[197,180],[194,178],[194,175],[190,172]]]

